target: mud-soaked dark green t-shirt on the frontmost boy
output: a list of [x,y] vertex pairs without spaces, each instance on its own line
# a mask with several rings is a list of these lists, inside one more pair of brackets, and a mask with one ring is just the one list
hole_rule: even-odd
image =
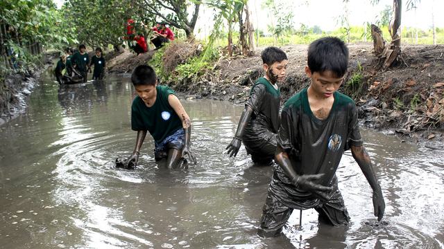
[[[330,114],[323,120],[311,112],[307,89],[284,104],[278,145],[289,154],[298,175],[324,174],[318,183],[337,187],[336,169],[343,151],[350,145],[362,144],[357,107],[348,96],[335,92]],[[289,183],[289,178],[277,167],[270,185],[272,192],[279,193],[275,196],[289,207],[313,208],[316,198]]]

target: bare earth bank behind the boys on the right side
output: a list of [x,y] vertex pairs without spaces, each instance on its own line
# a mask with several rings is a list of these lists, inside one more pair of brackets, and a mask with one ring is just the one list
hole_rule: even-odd
[[[340,91],[358,104],[367,127],[410,140],[444,140],[444,46],[402,46],[402,58],[382,71],[372,44],[350,44],[350,66]],[[309,85],[305,76],[307,45],[284,46],[289,57],[287,80],[281,85],[283,100]],[[263,75],[258,48],[253,57],[221,57],[212,70],[198,77],[163,82],[186,98],[230,100],[241,104],[253,82]],[[165,53],[172,53],[166,51]],[[110,60],[110,71],[129,73],[138,64],[149,63],[153,52],[136,57],[129,52]]]

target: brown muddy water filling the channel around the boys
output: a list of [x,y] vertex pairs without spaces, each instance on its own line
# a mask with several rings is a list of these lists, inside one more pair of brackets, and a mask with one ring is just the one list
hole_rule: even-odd
[[[139,167],[129,156],[128,78],[59,87],[46,80],[26,114],[0,127],[0,248],[443,248],[444,154],[363,131],[386,197],[386,223],[373,217],[371,190],[350,153],[338,169],[352,224],[319,225],[293,212],[284,237],[256,229],[271,167],[253,167],[241,148],[223,150],[242,107],[184,100],[198,165],[169,172],[146,139]],[[441,151],[442,152],[442,151]]]

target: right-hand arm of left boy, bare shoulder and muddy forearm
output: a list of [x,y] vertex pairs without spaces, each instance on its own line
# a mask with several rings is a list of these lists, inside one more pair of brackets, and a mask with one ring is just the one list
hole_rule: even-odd
[[173,108],[174,111],[176,111],[176,114],[179,116],[180,121],[182,121],[182,127],[183,131],[185,133],[185,145],[182,149],[182,157],[189,156],[189,159],[193,161],[194,164],[197,163],[196,157],[191,152],[190,145],[191,145],[191,121],[189,120],[189,116],[187,114],[187,111],[183,108],[182,104],[180,103],[179,99],[176,97],[176,95],[170,94],[168,95],[168,102],[169,105]]

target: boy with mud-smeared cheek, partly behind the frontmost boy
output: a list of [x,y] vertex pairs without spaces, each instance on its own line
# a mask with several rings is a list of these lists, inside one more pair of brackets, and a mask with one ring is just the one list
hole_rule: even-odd
[[226,149],[230,157],[236,156],[242,141],[254,163],[270,165],[275,155],[279,129],[278,82],[285,80],[288,59],[280,48],[268,47],[262,52],[262,62],[265,75],[253,85],[236,134]]

